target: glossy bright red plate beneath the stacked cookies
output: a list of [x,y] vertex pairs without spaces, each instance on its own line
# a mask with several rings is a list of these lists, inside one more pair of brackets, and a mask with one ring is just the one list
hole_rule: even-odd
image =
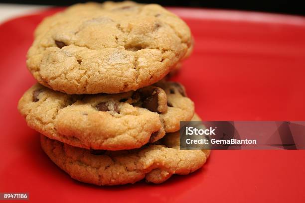
[[[172,8],[190,26],[193,55],[174,78],[206,120],[305,120],[305,18]],[[58,9],[0,25],[0,192],[31,202],[304,202],[305,151],[213,151],[189,176],[161,185],[95,187],[69,178],[42,152],[17,112],[32,84],[25,54],[41,19]]]

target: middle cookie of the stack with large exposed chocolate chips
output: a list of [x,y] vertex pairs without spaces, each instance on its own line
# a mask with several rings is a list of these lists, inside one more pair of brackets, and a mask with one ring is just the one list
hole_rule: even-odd
[[165,82],[120,94],[67,95],[36,84],[18,110],[29,127],[51,139],[86,149],[134,149],[192,118],[194,104],[183,91]]

